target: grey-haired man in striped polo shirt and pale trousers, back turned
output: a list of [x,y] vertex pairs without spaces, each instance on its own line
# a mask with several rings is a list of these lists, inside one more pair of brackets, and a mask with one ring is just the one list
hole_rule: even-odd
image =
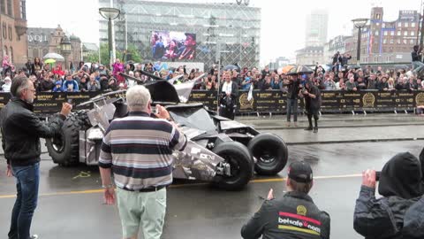
[[166,210],[166,186],[172,182],[172,150],[184,150],[186,135],[170,121],[161,105],[150,117],[148,89],[134,86],[126,91],[129,115],[113,120],[106,130],[99,158],[106,204],[115,204],[113,172],[117,185],[117,207],[124,238],[160,238]]

